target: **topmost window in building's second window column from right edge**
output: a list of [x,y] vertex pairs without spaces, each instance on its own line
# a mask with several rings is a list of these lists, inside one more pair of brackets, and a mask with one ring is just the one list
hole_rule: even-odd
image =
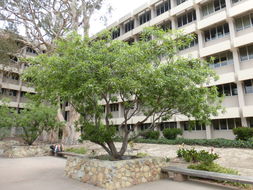
[[225,0],[214,0],[202,7],[202,15],[207,16],[226,7]]

